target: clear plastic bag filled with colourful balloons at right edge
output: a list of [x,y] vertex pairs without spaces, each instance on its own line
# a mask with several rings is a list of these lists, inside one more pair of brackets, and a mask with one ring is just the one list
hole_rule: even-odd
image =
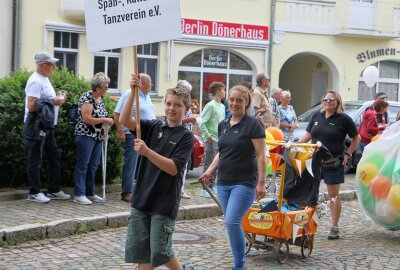
[[364,213],[375,223],[400,229],[400,121],[368,144],[358,163],[356,187]]

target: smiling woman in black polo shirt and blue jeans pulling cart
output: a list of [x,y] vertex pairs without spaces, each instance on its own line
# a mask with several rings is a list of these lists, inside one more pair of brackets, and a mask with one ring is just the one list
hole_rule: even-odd
[[246,269],[242,219],[254,199],[265,196],[265,131],[250,115],[251,98],[244,86],[229,91],[232,115],[218,125],[218,153],[200,177],[208,184],[218,167],[218,197],[234,258],[232,269]]

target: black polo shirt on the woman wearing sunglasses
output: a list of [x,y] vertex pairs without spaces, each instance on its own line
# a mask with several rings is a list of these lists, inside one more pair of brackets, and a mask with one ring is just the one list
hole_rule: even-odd
[[353,120],[345,113],[325,118],[325,112],[316,112],[306,130],[311,133],[313,143],[322,142],[333,156],[343,154],[346,135],[353,138],[358,134]]

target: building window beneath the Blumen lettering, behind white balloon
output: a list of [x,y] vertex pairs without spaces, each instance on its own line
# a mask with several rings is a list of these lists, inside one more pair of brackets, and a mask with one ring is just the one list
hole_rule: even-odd
[[381,61],[374,64],[379,70],[379,78],[373,87],[368,87],[362,73],[358,83],[358,99],[371,100],[378,92],[385,92],[389,100],[399,101],[400,94],[400,63],[396,61]]

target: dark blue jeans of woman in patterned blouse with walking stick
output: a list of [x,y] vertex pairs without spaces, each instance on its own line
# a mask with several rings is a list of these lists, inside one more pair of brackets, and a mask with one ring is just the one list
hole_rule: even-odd
[[96,194],[94,178],[101,158],[101,143],[102,141],[97,141],[89,136],[75,136],[75,196]]

